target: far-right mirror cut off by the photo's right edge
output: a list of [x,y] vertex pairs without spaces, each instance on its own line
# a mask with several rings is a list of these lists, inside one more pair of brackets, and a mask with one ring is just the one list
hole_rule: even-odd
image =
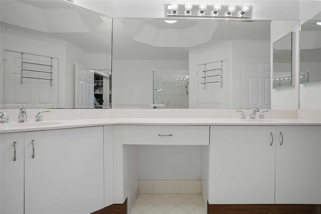
[[301,25],[300,84],[321,80],[321,12]]

